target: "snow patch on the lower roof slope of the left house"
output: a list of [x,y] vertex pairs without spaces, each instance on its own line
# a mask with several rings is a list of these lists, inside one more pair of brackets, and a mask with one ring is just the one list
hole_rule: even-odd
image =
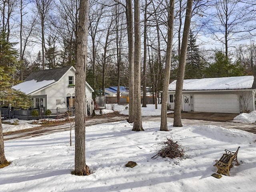
[[55,80],[43,80],[43,81],[37,81],[37,80],[30,80],[22,82],[18,85],[13,86],[12,88],[16,90],[20,90],[21,92],[24,92],[26,95],[31,94],[32,92],[43,88],[45,86],[48,86],[52,83],[54,83]]

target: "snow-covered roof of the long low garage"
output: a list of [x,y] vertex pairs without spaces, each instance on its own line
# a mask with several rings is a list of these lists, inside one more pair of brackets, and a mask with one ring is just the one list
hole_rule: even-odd
[[[254,76],[186,79],[182,90],[232,90],[252,89]],[[169,84],[169,90],[176,90],[176,80]]]

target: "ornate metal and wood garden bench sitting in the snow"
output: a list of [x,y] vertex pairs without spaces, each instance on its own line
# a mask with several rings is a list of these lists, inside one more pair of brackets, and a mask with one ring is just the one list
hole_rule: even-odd
[[237,160],[237,153],[239,148],[240,146],[238,147],[236,152],[232,152],[225,149],[226,153],[222,155],[220,160],[215,160],[216,164],[214,164],[214,166],[218,168],[218,171],[217,171],[218,174],[223,174],[223,175],[228,174],[228,176],[230,176],[229,170],[233,166],[232,162],[236,161],[236,166],[240,165]]

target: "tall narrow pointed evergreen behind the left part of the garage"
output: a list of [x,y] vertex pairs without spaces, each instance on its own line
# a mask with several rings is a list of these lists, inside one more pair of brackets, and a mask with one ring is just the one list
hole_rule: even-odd
[[198,45],[196,45],[196,36],[190,30],[188,37],[188,50],[186,58],[185,79],[195,79],[203,77],[205,61],[200,55]]

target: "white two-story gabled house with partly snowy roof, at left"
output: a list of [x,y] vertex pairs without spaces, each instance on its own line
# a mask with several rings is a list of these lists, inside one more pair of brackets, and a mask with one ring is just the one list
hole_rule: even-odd
[[[55,109],[74,106],[75,72],[73,66],[35,71],[24,82],[12,88],[31,95],[34,108]],[[86,98],[94,90],[86,82]]]

